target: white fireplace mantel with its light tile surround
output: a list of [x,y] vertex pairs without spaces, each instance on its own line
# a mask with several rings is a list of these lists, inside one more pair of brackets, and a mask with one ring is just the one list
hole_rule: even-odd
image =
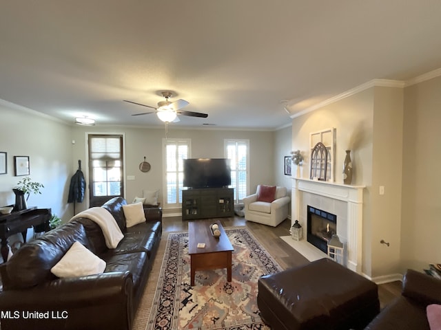
[[[346,267],[358,273],[361,272],[362,263],[363,188],[364,186],[293,178],[291,202],[291,221],[294,224],[298,219],[305,236],[308,229],[311,229],[308,228],[308,208],[323,211],[338,219],[336,228],[331,226],[331,229],[336,230],[344,244]],[[306,239],[305,244],[309,244]]]

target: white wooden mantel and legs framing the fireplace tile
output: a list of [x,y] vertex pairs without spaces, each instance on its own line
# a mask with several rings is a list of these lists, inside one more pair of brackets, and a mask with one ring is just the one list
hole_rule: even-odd
[[[340,232],[345,232],[345,236],[347,236],[342,237],[347,251],[347,267],[360,273],[362,265],[362,204],[365,186],[349,186],[346,184],[296,177],[292,179],[291,225],[296,219],[302,219],[303,212],[306,212],[307,206],[300,205],[300,200],[302,200],[301,195],[305,192],[336,201],[342,201],[346,204],[347,214],[345,215],[347,217],[347,223],[345,228],[340,228]],[[315,207],[320,208],[319,205],[315,205]]]

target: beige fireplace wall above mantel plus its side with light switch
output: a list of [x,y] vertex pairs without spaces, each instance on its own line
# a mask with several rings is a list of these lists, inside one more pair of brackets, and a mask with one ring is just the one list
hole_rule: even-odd
[[[372,278],[400,269],[402,99],[401,88],[371,87],[293,120],[293,148],[305,152],[309,133],[336,128],[336,183],[342,183],[345,150],[351,150],[352,185],[366,187],[362,272]],[[308,168],[309,154],[305,178]],[[385,195],[379,196],[380,185],[385,186]],[[388,250],[380,239],[391,241]]]

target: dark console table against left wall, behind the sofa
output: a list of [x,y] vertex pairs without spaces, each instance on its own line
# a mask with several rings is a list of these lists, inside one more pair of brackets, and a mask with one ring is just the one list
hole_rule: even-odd
[[52,217],[50,208],[27,208],[25,210],[12,212],[10,214],[0,215],[0,239],[1,239],[1,256],[3,262],[8,260],[9,240],[8,237],[21,232],[23,241],[26,242],[26,234],[28,228],[43,226],[45,230],[49,229],[49,220]]

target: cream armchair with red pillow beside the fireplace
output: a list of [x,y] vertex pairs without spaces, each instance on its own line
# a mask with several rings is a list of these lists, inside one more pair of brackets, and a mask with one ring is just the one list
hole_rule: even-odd
[[287,219],[291,198],[287,196],[286,187],[276,187],[274,201],[258,201],[260,187],[260,185],[257,186],[255,194],[243,199],[245,220],[276,227],[280,222]]

